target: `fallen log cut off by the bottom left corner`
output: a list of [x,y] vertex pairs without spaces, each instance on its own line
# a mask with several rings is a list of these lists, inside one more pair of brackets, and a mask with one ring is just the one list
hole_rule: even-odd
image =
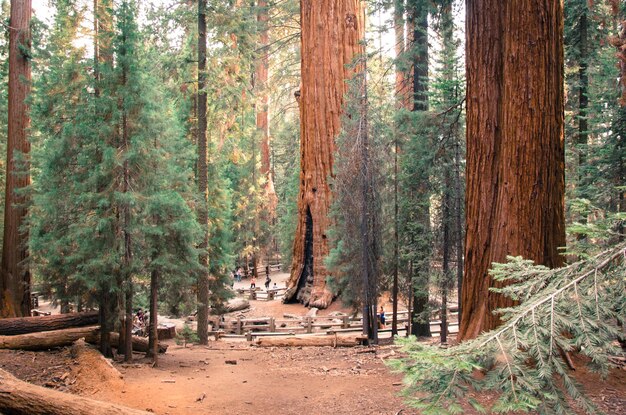
[[0,369],[0,413],[11,415],[149,415],[150,412],[31,385]]

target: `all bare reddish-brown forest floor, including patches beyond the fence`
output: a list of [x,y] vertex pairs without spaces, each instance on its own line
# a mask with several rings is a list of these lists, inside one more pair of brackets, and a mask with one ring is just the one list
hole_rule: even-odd
[[[247,315],[278,317],[306,311],[280,301],[254,301]],[[337,303],[319,315],[332,311],[349,310]],[[169,349],[159,356],[158,367],[140,354],[132,364],[116,363],[122,381],[98,376],[88,362],[73,359],[68,348],[0,350],[0,367],[34,384],[161,415],[418,413],[400,397],[402,376],[391,373],[384,364],[384,360],[399,356],[393,345],[258,348],[241,340],[187,347],[173,340],[166,343]],[[626,367],[614,369],[602,381],[582,364],[577,366],[575,377],[606,414],[626,413]],[[486,404],[495,399],[488,394],[477,398]],[[469,407],[464,413],[476,414]]]

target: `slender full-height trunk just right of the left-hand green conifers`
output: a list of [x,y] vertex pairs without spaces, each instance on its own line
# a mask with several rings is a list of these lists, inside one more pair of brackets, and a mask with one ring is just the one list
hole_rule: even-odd
[[209,228],[208,228],[208,147],[207,147],[207,95],[206,95],[206,0],[198,1],[198,192],[202,200],[198,204],[198,221],[204,232],[200,244],[198,275],[198,337],[200,344],[209,342]]

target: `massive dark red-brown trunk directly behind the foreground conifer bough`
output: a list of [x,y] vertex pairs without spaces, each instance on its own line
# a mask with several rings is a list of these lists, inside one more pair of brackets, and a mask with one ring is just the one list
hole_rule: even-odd
[[460,338],[495,328],[512,301],[488,271],[507,255],[563,263],[560,1],[467,2],[467,199]]

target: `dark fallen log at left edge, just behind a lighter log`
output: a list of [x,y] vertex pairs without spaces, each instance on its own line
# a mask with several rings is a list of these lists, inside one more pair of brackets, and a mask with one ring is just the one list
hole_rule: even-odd
[[56,314],[53,316],[17,317],[0,319],[0,335],[38,333],[98,324],[98,312]]

